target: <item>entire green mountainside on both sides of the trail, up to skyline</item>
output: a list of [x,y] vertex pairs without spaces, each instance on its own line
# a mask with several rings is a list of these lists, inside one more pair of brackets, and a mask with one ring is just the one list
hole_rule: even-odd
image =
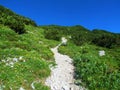
[[[37,26],[0,6],[0,89],[49,90],[44,81],[55,65],[51,47],[73,58],[77,85],[89,90],[120,89],[120,34],[76,26]],[[99,56],[104,50],[105,55]],[[80,83],[82,80],[83,83]]]

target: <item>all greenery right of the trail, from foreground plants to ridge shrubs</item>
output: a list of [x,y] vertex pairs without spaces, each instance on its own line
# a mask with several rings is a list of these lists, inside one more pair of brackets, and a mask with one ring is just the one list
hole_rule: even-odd
[[[68,39],[67,46],[61,46],[59,51],[73,58],[76,84],[89,90],[120,89],[120,34],[90,31],[79,25],[42,27],[48,39],[59,41],[63,36]],[[54,36],[49,37],[52,33]],[[99,56],[101,50],[105,51],[104,56]]]

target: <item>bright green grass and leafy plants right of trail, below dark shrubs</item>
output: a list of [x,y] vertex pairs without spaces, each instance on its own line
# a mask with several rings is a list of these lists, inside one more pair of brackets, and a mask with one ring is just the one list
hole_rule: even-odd
[[[99,56],[100,50],[105,50],[106,55]],[[120,89],[119,50],[120,48],[106,49],[89,44],[76,46],[72,43],[59,49],[61,53],[73,58],[76,83],[89,90]],[[82,80],[82,83],[79,80]]]

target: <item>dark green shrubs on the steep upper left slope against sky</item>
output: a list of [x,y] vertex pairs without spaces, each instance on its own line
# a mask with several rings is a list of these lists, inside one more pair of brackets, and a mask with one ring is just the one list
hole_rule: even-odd
[[26,32],[25,25],[36,26],[33,20],[20,16],[3,6],[0,6],[0,24],[10,27],[19,34]]

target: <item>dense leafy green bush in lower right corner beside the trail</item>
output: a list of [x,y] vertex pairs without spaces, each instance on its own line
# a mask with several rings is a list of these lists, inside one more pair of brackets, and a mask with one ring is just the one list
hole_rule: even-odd
[[89,56],[74,57],[76,79],[82,79],[90,90],[118,90],[120,89],[120,73],[111,71],[105,62]]

